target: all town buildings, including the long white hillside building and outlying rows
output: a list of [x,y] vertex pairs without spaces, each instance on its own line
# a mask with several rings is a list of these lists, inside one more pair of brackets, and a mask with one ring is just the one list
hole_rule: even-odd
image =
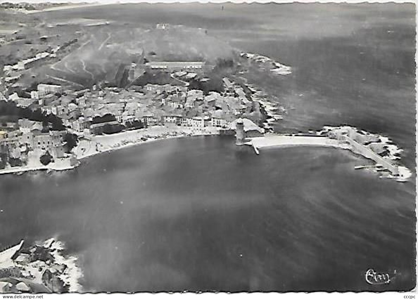
[[[165,29],[166,25],[161,24],[159,27]],[[46,152],[54,161],[67,159],[68,163],[75,163],[66,153],[68,148],[64,136],[68,132],[88,138],[90,135],[115,133],[125,128],[155,125],[228,130],[240,117],[256,123],[260,120],[260,103],[254,101],[252,91],[248,91],[248,88],[245,91],[228,78],[223,79],[222,92],[209,93],[189,88],[181,80],[180,85],[129,85],[127,89],[110,87],[107,83],[97,83],[83,90],[59,84],[38,84],[34,90],[27,85],[20,87],[18,79],[32,63],[56,57],[60,49],[71,43],[3,68],[4,84],[3,89],[0,89],[0,100],[13,102],[31,111],[41,111],[43,116],[53,114],[64,125],[63,131],[51,131],[45,130],[40,122],[20,119],[13,126],[3,128],[0,131],[0,154],[3,160],[7,159],[6,164],[13,166],[10,161],[15,160],[28,166],[38,164]],[[202,61],[140,63],[143,70],[168,72],[173,78],[182,79],[196,78],[213,68]],[[130,79],[137,77],[137,69],[140,68],[136,64],[131,65]],[[134,80],[131,81],[133,84]]]

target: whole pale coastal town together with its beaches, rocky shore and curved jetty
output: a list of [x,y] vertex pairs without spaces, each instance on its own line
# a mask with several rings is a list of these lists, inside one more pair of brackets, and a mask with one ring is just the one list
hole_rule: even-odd
[[[206,35],[200,28],[188,31],[170,24],[157,24],[152,30],[165,36],[185,30]],[[18,38],[16,33],[3,37],[7,43],[15,43]],[[165,61],[154,60],[154,51],[145,54],[144,48],[140,48],[131,55],[131,63],[121,64],[112,77],[82,85],[51,75],[40,82],[33,75],[45,66],[56,69],[61,60],[66,61],[71,55],[72,47],[77,50],[79,43],[70,38],[62,44],[56,40],[48,44],[51,38],[46,35],[39,40],[48,45],[46,51],[4,65],[1,70],[0,174],[72,169],[82,158],[162,138],[238,135],[237,123],[238,127],[243,124],[245,131],[237,144],[251,145],[257,153],[258,148],[266,146],[300,145],[294,136],[291,142],[283,139],[283,134],[272,136],[274,124],[283,119],[287,108],[239,76],[251,68],[279,76],[291,73],[291,67],[267,56],[240,52],[234,59],[217,59],[214,63]],[[94,79],[83,60],[82,63],[84,73]],[[75,73],[68,61],[64,65]],[[322,136],[326,142],[321,145],[329,145],[344,136],[367,133],[355,128],[344,132],[345,135],[333,129],[310,135]],[[260,139],[267,137],[267,142]],[[254,140],[244,142],[245,138]],[[379,167],[384,164],[384,169],[400,181],[410,176],[408,171],[399,171],[393,165],[401,152],[395,145],[381,143],[376,136],[360,143],[355,138],[350,138],[353,142],[349,144],[354,152],[372,159]],[[312,142],[305,136],[303,140],[302,144],[318,145],[319,139]],[[344,145],[340,142],[339,147]]]

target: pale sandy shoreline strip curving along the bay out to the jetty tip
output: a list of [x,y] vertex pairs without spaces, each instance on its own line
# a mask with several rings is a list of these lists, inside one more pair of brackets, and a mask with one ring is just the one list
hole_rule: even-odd
[[[325,127],[324,131],[327,131],[330,127]],[[337,127],[335,127],[337,128]],[[365,158],[371,159],[375,162],[373,166],[376,170],[384,170],[381,164],[385,163],[378,162],[370,155],[365,155],[363,151],[354,147],[353,145],[346,144],[336,139],[331,139],[328,136],[321,135],[321,132],[316,132],[317,135],[288,135],[288,134],[265,134],[263,137],[249,138],[250,141],[246,142],[246,145],[252,146],[255,153],[259,154],[260,148],[271,148],[271,147],[293,147],[293,146],[317,146],[317,147],[332,147],[340,148],[351,151],[354,154],[358,154]],[[370,134],[370,133],[369,133]],[[180,137],[192,137],[192,136],[206,136],[206,135],[219,135],[219,128],[215,127],[204,127],[204,128],[193,128],[193,127],[178,127],[178,126],[153,126],[149,128],[143,128],[132,131],[124,131],[110,135],[98,135],[91,136],[89,138],[83,138],[79,141],[78,145],[73,149],[74,154],[77,157],[78,163],[72,166],[60,166],[59,163],[51,163],[47,166],[20,166],[14,168],[7,168],[0,170],[1,174],[22,174],[28,171],[64,171],[71,170],[79,165],[86,158],[101,154],[116,151],[130,146],[151,143],[154,141],[160,141],[164,139],[180,138]],[[387,140],[390,140],[387,138]],[[386,141],[386,140],[385,140]],[[354,142],[354,141],[353,141]],[[396,151],[401,151],[396,146]],[[391,149],[393,150],[393,149]],[[370,150],[369,150],[370,151]],[[377,154],[376,154],[377,155]],[[389,162],[387,162],[389,163]],[[389,165],[389,171],[392,174],[387,176],[381,176],[382,178],[395,178],[398,181],[406,181],[412,175],[411,171],[400,165]],[[358,166],[358,168],[364,168]],[[393,168],[393,169],[392,169]],[[394,172],[396,170],[396,176]]]

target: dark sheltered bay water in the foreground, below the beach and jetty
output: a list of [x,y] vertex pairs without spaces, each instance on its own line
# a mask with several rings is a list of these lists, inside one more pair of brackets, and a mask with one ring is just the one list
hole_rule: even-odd
[[388,288],[408,288],[413,192],[355,171],[362,160],[324,148],[257,156],[214,136],[2,176],[2,245],[58,236],[86,290],[372,289],[369,267],[397,269]]

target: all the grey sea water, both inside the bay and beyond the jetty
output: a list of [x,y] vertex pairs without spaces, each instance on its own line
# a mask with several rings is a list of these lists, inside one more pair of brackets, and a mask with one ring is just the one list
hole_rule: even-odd
[[[359,126],[392,137],[415,168],[413,5],[209,7],[55,13],[209,28],[294,68],[257,82],[295,108],[278,130]],[[0,245],[59,237],[79,255],[86,291],[410,289],[415,185],[353,169],[362,163],[336,149],[256,156],[231,138],[196,137],[1,176]],[[400,274],[370,286],[369,268]]]

